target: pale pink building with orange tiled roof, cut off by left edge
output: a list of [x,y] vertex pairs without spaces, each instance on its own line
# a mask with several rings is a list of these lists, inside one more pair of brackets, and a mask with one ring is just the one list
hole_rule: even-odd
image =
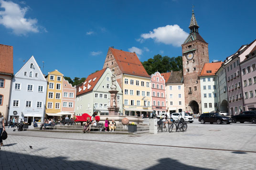
[[13,76],[13,47],[0,44],[0,112],[8,120],[11,79]]

